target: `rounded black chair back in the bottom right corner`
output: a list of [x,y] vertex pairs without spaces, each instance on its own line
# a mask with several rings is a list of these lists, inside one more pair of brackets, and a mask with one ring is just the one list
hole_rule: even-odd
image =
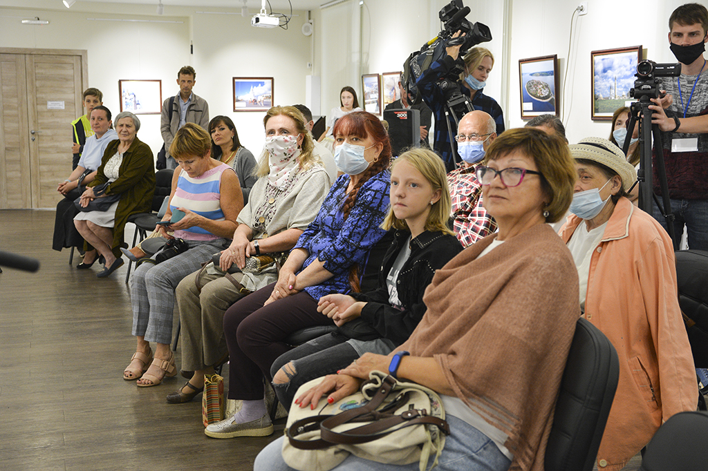
[[654,434],[639,471],[703,471],[708,462],[708,414],[680,412]]

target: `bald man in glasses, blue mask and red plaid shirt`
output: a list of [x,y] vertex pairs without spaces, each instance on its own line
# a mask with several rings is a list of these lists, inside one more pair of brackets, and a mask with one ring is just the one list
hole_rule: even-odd
[[[455,139],[461,150],[469,145],[463,143],[481,141],[482,149],[486,151],[491,141],[496,139],[496,122],[484,111],[469,112],[459,120]],[[461,151],[460,154],[463,161],[458,164],[457,169],[447,174],[447,185],[450,187],[452,197],[455,235],[463,247],[468,247],[495,232],[497,226],[493,217],[487,214],[482,205],[481,184],[474,175],[477,166],[481,165],[484,153],[479,155],[479,151],[474,153]]]

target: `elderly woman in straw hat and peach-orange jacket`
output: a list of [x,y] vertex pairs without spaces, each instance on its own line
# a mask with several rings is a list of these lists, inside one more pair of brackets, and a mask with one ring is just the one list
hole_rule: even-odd
[[697,405],[696,376],[678,306],[673,244],[629,202],[636,170],[607,139],[570,146],[578,179],[561,228],[578,268],[584,316],[619,356],[619,385],[598,453],[619,470],[670,416]]

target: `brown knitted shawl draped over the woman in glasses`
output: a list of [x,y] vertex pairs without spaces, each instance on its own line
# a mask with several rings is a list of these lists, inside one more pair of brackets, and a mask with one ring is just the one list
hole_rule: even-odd
[[544,469],[566,357],[580,315],[578,272],[546,224],[479,260],[486,237],[439,269],[401,347],[433,356],[455,394],[508,436],[511,470]]

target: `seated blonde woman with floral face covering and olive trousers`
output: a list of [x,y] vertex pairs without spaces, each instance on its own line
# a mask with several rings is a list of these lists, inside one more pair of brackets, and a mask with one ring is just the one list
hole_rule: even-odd
[[[173,404],[198,395],[204,388],[204,375],[213,373],[214,367],[227,358],[224,311],[244,296],[231,279],[247,291],[276,281],[275,264],[253,272],[244,269],[246,262],[257,255],[287,256],[329,191],[329,176],[312,154],[312,138],[302,114],[291,106],[272,107],[263,124],[265,149],[256,169],[258,181],[239,214],[233,242],[222,251],[219,266],[209,264],[177,286],[182,374],[189,380],[167,396]],[[224,276],[234,265],[244,272]]]

